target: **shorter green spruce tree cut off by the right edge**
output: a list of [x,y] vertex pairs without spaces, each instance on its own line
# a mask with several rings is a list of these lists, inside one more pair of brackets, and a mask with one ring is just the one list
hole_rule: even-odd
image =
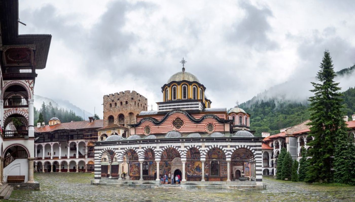
[[[344,127],[342,126],[344,124]],[[334,151],[334,181],[355,185],[355,145],[344,130],[345,121],[339,123]],[[346,128],[347,129],[347,128]],[[352,136],[352,135],[351,135]]]

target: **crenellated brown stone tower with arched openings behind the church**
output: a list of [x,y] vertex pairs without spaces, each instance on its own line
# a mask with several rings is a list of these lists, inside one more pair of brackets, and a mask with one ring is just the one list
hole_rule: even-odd
[[136,116],[147,111],[147,98],[136,91],[125,91],[104,96],[104,127],[118,124],[130,128]]

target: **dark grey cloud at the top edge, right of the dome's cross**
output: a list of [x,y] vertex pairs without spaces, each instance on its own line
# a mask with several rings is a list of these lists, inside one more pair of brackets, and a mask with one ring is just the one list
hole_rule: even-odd
[[272,11],[267,7],[258,8],[249,1],[241,1],[239,5],[245,11],[245,16],[233,24],[227,36],[229,41],[252,46],[258,51],[277,48],[277,42],[267,36],[272,29],[268,23],[268,18],[273,16]]

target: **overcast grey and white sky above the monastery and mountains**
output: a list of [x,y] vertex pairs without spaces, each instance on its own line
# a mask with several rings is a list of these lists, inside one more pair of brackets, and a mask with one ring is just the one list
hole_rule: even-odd
[[[148,104],[179,61],[212,107],[233,107],[288,80],[315,76],[328,48],[335,70],[355,64],[355,1],[20,0],[20,34],[51,34],[35,94],[102,117],[105,94]],[[355,84],[354,84],[355,85]],[[150,107],[149,107],[150,110]]]

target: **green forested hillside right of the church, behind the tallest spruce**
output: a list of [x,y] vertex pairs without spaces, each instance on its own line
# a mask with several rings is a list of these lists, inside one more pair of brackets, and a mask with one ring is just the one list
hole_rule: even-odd
[[[355,112],[355,88],[351,87],[343,92],[342,98],[346,114],[351,118]],[[282,128],[294,126],[309,119],[311,114],[308,104],[292,101],[280,102],[276,98],[258,100],[253,104],[250,102],[251,100],[242,103],[239,107],[251,115],[250,128],[256,131],[256,136],[261,136],[261,132],[277,134]]]

